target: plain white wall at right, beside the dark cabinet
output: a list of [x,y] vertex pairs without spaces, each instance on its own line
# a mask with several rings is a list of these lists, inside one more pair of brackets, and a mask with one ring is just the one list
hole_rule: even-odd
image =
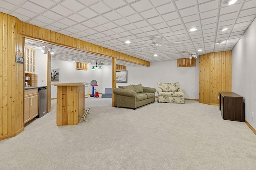
[[[232,92],[244,97],[245,119],[256,129],[256,20],[232,50]],[[252,118],[252,112],[254,117]]]

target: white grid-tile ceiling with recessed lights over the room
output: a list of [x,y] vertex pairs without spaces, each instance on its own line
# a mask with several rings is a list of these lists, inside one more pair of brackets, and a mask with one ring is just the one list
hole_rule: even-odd
[[[256,0],[238,0],[228,6],[224,0],[0,0],[0,11],[58,33],[100,45],[146,61],[168,61],[190,54],[232,50],[256,17]],[[197,31],[189,29],[196,27]],[[220,28],[228,27],[221,31]],[[160,35],[166,49],[146,47]],[[124,42],[130,40],[127,45]],[[226,41],[219,44],[218,42]],[[34,42],[26,40],[27,43]],[[41,44],[42,45],[42,44]],[[37,45],[39,46],[39,45]],[[58,48],[60,48],[58,50]],[[140,50],[142,49],[142,50]],[[198,51],[202,49],[202,51]],[[55,47],[55,59],[95,63],[92,54],[62,54]],[[185,53],[181,53],[185,52]],[[154,57],[154,54],[158,57]],[[72,55],[76,54],[76,55]],[[65,55],[68,55],[65,56]],[[72,57],[72,56],[76,57]],[[94,59],[94,62],[90,59]],[[72,60],[71,60],[72,59]]]

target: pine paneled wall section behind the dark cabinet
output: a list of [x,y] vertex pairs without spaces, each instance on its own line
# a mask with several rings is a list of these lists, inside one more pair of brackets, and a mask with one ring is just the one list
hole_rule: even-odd
[[231,92],[231,51],[199,56],[199,102],[218,105],[219,92]]

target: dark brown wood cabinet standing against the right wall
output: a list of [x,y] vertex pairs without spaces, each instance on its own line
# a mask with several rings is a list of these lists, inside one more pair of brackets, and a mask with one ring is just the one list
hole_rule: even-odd
[[219,92],[219,109],[225,120],[244,121],[244,98],[233,92]]

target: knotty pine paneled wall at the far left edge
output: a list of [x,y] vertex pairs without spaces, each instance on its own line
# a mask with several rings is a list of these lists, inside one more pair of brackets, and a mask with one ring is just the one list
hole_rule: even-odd
[[24,130],[24,64],[20,21],[0,12],[0,140]]

